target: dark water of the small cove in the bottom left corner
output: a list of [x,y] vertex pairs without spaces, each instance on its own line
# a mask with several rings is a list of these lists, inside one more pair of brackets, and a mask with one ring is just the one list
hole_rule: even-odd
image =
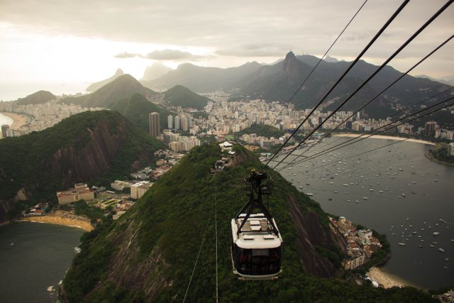
[[[0,226],[1,302],[55,302],[82,229],[17,222]],[[53,291],[48,291],[53,286]]]

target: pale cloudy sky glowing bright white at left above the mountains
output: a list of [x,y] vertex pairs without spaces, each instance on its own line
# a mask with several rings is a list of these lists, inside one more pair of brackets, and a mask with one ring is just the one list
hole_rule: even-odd
[[[272,64],[289,50],[321,57],[364,1],[0,0],[0,100],[82,92],[117,68],[141,79],[155,62],[225,68]],[[328,55],[353,60],[401,3],[368,0]],[[411,0],[363,59],[380,65],[443,4]],[[389,65],[404,72],[453,33],[451,5]],[[454,75],[453,40],[412,75]]]

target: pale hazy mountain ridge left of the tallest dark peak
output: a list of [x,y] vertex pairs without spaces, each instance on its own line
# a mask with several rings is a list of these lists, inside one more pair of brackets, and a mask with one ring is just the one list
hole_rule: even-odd
[[228,90],[238,87],[253,72],[262,66],[258,62],[248,62],[239,67],[226,69],[218,67],[199,67],[190,63],[179,65],[166,75],[152,81],[142,82],[152,89],[170,89],[183,85],[194,92],[214,92],[218,89]]

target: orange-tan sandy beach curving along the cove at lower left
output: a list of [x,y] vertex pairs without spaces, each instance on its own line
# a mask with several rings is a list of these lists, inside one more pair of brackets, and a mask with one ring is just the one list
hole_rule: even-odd
[[84,231],[92,231],[94,229],[88,218],[76,216],[69,211],[55,211],[55,213],[46,216],[28,216],[23,220],[77,227],[82,228]]

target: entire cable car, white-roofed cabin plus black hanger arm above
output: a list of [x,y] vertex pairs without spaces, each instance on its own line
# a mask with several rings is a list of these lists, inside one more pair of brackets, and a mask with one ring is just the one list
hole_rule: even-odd
[[243,280],[276,279],[282,272],[282,236],[262,203],[262,195],[271,194],[271,177],[253,170],[245,189],[249,201],[231,220],[233,273]]

